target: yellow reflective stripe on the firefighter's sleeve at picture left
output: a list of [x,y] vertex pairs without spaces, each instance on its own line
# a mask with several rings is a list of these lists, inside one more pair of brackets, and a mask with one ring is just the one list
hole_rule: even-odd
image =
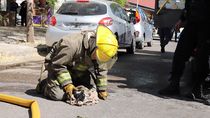
[[59,73],[57,78],[60,84],[64,83],[65,81],[71,81],[71,75],[68,71]]

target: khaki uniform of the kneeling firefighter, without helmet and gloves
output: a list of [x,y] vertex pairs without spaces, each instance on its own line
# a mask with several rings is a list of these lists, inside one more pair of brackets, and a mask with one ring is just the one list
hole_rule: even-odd
[[108,62],[91,59],[91,53],[96,48],[96,36],[93,32],[82,32],[64,36],[56,43],[45,58],[45,68],[48,71],[42,92],[53,100],[64,100],[63,88],[68,84],[84,85],[87,88],[95,83],[98,91],[107,89],[108,69],[117,60],[112,57]]

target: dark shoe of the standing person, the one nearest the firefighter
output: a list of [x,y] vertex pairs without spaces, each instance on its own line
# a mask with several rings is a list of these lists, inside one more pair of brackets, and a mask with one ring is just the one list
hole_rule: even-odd
[[179,95],[180,94],[179,85],[170,84],[167,87],[159,90],[158,93],[160,95],[166,95],[166,96]]

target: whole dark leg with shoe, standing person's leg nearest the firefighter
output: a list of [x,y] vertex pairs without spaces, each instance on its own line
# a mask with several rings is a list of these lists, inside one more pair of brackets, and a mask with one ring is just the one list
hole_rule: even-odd
[[185,69],[185,62],[189,59],[196,45],[196,39],[192,35],[193,28],[186,26],[181,33],[180,41],[177,44],[173,62],[170,84],[159,91],[162,95],[179,94],[179,82]]

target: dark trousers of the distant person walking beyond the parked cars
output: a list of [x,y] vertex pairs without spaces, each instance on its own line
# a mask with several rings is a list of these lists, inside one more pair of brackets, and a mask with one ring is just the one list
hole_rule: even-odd
[[164,48],[172,38],[172,28],[160,28],[158,34],[160,36],[160,46]]

